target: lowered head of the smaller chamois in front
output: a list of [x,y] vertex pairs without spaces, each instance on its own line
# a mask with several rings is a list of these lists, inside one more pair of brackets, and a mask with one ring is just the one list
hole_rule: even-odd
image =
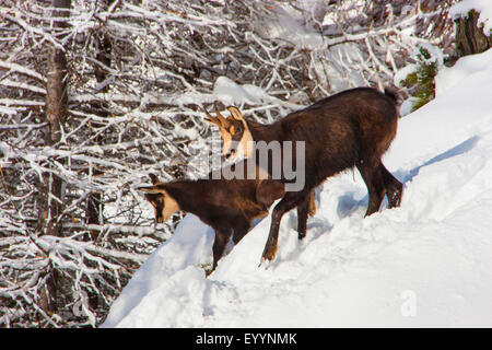
[[149,177],[152,180],[152,186],[139,187],[137,189],[145,192],[145,199],[154,207],[155,222],[166,222],[172,214],[179,210],[179,206],[176,200],[162,188],[162,184],[159,182],[157,176],[149,174]]

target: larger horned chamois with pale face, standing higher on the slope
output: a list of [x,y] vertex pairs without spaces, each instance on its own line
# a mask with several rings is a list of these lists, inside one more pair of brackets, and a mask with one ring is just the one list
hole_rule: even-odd
[[[389,208],[400,206],[403,186],[382,163],[382,156],[397,132],[399,113],[394,92],[385,90],[382,93],[372,88],[347,90],[271,125],[245,119],[236,107],[227,109],[231,113],[229,118],[220,115],[216,108],[218,118],[207,114],[207,120],[220,128],[226,158],[234,153],[246,158],[254,155],[256,149],[251,141],[305,142],[305,185],[301,190],[285,191],[274,207],[262,261],[272,260],[276,256],[283,214],[297,207],[298,237],[303,238],[313,189],[327,177],[347,168],[355,166],[367,186],[365,217],[379,210],[385,195]],[[280,182],[285,183],[283,178]]]

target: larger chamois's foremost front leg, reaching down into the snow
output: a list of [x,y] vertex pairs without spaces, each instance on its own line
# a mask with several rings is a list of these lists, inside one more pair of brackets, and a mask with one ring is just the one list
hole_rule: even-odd
[[286,192],[282,200],[276,206],[276,208],[273,208],[273,212],[271,213],[270,233],[268,234],[268,240],[267,244],[265,245],[261,261],[272,260],[276,257],[277,243],[279,240],[280,220],[282,219],[284,213],[305,201],[306,197],[308,196],[305,191]]

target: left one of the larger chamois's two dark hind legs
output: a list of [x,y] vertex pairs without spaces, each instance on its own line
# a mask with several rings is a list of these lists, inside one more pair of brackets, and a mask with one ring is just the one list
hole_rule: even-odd
[[358,165],[368,191],[368,206],[364,217],[368,217],[379,210],[380,202],[386,194],[379,164],[364,161]]

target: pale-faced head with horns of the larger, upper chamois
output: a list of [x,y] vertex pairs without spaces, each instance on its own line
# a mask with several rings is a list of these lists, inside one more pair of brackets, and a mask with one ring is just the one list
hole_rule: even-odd
[[224,142],[223,155],[225,159],[235,161],[239,156],[248,158],[253,154],[253,137],[248,124],[243,114],[234,106],[227,107],[231,116],[225,118],[213,104],[216,118],[212,117],[207,109],[206,120],[219,127],[221,138]]

